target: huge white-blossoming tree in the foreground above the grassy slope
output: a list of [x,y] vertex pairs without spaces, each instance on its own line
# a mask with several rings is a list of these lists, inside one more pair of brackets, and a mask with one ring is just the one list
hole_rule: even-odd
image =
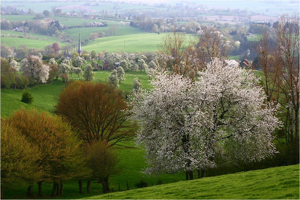
[[[136,143],[145,149],[145,174],[215,168],[261,160],[276,153],[275,108],[265,105],[258,79],[215,59],[198,80],[154,72],[153,89],[135,92],[129,103],[139,122]],[[187,177],[188,179],[188,177]]]

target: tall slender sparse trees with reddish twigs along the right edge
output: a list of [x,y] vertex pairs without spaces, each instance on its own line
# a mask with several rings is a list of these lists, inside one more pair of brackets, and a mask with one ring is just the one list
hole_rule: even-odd
[[266,102],[278,105],[278,145],[287,151],[285,164],[299,163],[299,15],[283,15],[273,32],[261,29],[251,43]]

